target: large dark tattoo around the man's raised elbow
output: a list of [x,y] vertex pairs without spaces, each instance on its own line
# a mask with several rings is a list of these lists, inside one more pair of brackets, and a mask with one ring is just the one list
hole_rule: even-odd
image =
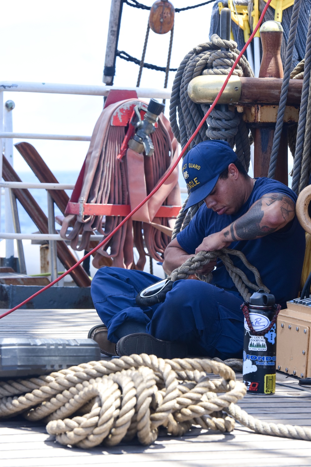
[[[276,209],[280,210],[282,218],[288,223],[291,220],[291,213],[295,212],[294,202],[282,193],[269,193],[258,199],[257,202],[250,206],[248,212],[235,221],[234,226],[237,236],[242,240],[250,240],[275,232],[278,227],[261,224],[264,217],[264,208],[273,203],[277,203]],[[280,226],[284,224],[284,221],[280,222]],[[233,238],[232,224],[230,229]]]

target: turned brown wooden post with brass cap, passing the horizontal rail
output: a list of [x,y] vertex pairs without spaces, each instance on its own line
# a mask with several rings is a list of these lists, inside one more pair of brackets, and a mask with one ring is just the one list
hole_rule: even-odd
[[[266,21],[260,28],[263,58],[259,78],[283,78],[281,43],[283,28],[277,21]],[[254,177],[267,177],[273,143],[274,126],[261,124],[255,130]],[[277,156],[276,180],[288,185],[287,129],[283,128]]]

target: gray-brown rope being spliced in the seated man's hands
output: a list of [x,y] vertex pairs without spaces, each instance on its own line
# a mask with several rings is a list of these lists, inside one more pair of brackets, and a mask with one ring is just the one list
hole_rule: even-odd
[[[244,272],[241,269],[237,268],[233,264],[229,255],[234,255],[240,258],[243,264],[254,274],[257,285],[251,283],[246,274],[244,274]],[[210,282],[213,277],[211,272],[207,275],[200,275],[197,274],[196,271],[202,269],[203,266],[205,266],[215,258],[219,258],[223,262],[233,283],[237,287],[237,290],[239,291],[245,302],[250,301],[251,293],[249,292],[248,287],[256,291],[259,289],[263,289],[266,293],[270,292],[270,290],[262,283],[258,269],[255,268],[255,266],[252,266],[247,261],[242,251],[232,250],[230,248],[222,248],[220,250],[215,251],[200,251],[195,256],[192,256],[181,266],[179,266],[179,268],[174,269],[169,279],[172,282],[175,282],[180,279],[186,279],[188,276],[195,274],[196,277],[201,281]]]

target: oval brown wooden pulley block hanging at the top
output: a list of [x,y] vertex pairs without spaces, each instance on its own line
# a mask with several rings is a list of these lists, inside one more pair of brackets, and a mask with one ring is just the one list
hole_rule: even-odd
[[156,34],[166,34],[174,26],[175,9],[168,0],[157,0],[151,7],[149,26]]

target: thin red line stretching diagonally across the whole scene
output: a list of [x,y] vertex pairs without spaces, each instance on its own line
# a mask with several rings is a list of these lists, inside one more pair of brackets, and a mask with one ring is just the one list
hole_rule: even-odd
[[203,119],[200,121],[198,127],[196,128],[196,131],[194,132],[194,134],[189,138],[189,141],[187,142],[187,144],[185,145],[185,147],[183,148],[182,152],[180,153],[180,155],[178,156],[176,162],[172,165],[172,167],[170,168],[170,170],[168,171],[168,173],[165,175],[165,177],[162,178],[161,182],[159,184],[156,185],[156,187],[149,193],[149,195],[138,205],[136,206],[133,211],[131,211],[121,222],[120,224],[115,227],[115,230],[113,230],[111,233],[109,233],[109,235],[103,240],[101,241],[101,243],[99,243],[97,245],[97,247],[93,248],[93,250],[89,251],[85,256],[83,256],[83,258],[81,258],[81,260],[79,260],[78,262],[76,262],[74,264],[74,266],[72,266],[70,269],[68,269],[66,272],[64,272],[64,274],[62,274],[61,276],[59,276],[57,279],[55,279],[53,282],[49,283],[48,285],[46,285],[45,287],[43,287],[43,289],[41,290],[38,290],[38,292],[34,293],[33,295],[31,295],[31,297],[28,297],[26,300],[24,300],[23,302],[21,302],[19,305],[16,305],[14,306],[14,308],[12,308],[11,310],[9,311],[6,311],[5,313],[3,313],[2,315],[0,315],[0,319],[1,318],[4,318],[5,316],[7,316],[8,314],[12,313],[13,311],[17,310],[18,308],[20,308],[21,306],[25,305],[26,303],[28,303],[32,298],[34,297],[37,297],[37,295],[41,294],[42,292],[44,292],[44,290],[47,290],[49,287],[52,287],[52,285],[56,284],[58,281],[60,281],[63,277],[67,276],[67,274],[69,274],[71,271],[73,271],[77,266],[79,266],[79,264],[81,264],[81,262],[83,262],[86,258],[88,258],[88,256],[92,255],[92,253],[94,253],[95,251],[97,251],[99,248],[101,248],[103,245],[105,245],[105,243],[107,243],[111,237],[125,224],[125,222],[128,221],[128,219],[133,215],[135,214],[136,211],[138,211],[138,209],[140,209],[142,207],[142,205],[144,205],[148,199],[150,199],[155,193],[156,191],[158,191],[158,189],[160,188],[160,186],[167,180],[167,178],[170,176],[170,174],[173,172],[173,170],[175,169],[176,165],[179,163],[179,161],[181,160],[181,158],[183,157],[186,149],[188,148],[189,144],[193,141],[193,139],[195,138],[196,134],[199,132],[200,128],[202,127],[203,123],[205,122],[205,120],[207,119],[207,117],[210,115],[211,111],[213,110],[213,108],[216,106],[220,96],[222,95],[223,93],[223,90],[224,88],[226,87],[228,81],[229,81],[229,78],[230,76],[232,75],[234,69],[236,68],[237,64],[238,64],[238,61],[240,60],[240,58],[242,57],[243,53],[245,52],[245,50],[247,49],[248,45],[250,44],[250,42],[252,41],[254,35],[257,33],[257,30],[259,28],[259,26],[261,25],[263,19],[264,19],[264,15],[270,5],[272,0],[268,0],[267,1],[267,4],[266,6],[264,7],[264,10],[262,12],[262,14],[260,15],[260,18],[259,18],[259,21],[257,23],[257,26],[256,28],[253,30],[252,34],[250,35],[250,38],[249,40],[246,42],[246,44],[244,45],[243,49],[241,50],[241,52],[239,53],[236,61],[234,62],[234,64],[232,65],[232,68],[231,70],[229,71],[229,74],[227,76],[227,78],[225,79],[224,83],[223,83],[223,86],[221,88],[221,90],[218,92],[217,96],[216,96],[216,99],[214,100],[214,102],[212,103],[212,105],[210,106],[209,110],[205,113]]

